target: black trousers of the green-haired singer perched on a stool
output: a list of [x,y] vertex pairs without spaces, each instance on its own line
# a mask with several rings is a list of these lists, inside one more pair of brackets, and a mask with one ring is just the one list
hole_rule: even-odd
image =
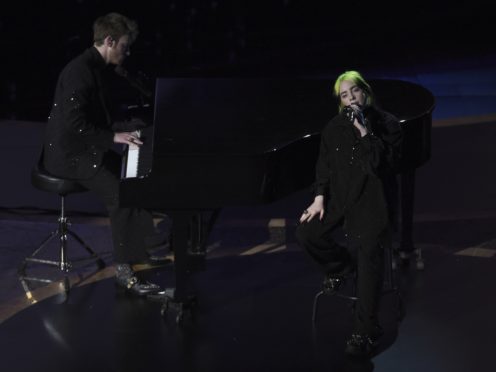
[[[379,325],[384,247],[389,242],[389,232],[381,234],[376,241],[345,241],[345,245],[336,241],[335,236],[339,231],[342,231],[342,221],[333,222],[325,215],[322,221],[314,217],[310,222],[298,225],[296,238],[325,274],[344,275],[356,265],[358,300],[354,313],[354,332],[371,333]],[[350,252],[352,247],[356,254]]]

